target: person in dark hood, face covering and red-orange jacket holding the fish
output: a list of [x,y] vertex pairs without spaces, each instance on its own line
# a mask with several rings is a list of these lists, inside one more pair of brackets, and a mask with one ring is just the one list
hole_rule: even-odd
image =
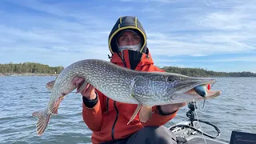
[[[146,33],[136,17],[121,17],[109,36],[110,62],[132,70],[161,71],[154,66],[146,46]],[[78,88],[83,78],[74,78]],[[115,102],[94,86],[87,85],[82,94],[82,117],[93,131],[93,143],[176,143],[174,134],[164,125],[186,103],[154,106],[152,117],[140,122],[138,115],[129,125],[137,105]]]

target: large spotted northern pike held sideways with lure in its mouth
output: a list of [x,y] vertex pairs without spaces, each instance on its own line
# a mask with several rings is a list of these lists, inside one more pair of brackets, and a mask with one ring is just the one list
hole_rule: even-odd
[[[86,59],[67,66],[54,82],[50,82],[50,101],[45,110],[35,111],[32,115],[38,118],[36,131],[38,135],[46,130],[51,115],[58,114],[62,99],[76,86],[74,77],[85,78],[78,89],[82,91],[87,83],[117,102],[138,104],[127,125],[139,114],[141,122],[150,119],[153,106],[162,106],[181,102],[199,101],[215,98],[220,91],[206,90],[206,96],[196,93],[196,86],[206,87],[215,82],[214,78],[195,78],[168,72],[146,72],[130,70],[99,59]],[[46,86],[47,87],[47,86]]]

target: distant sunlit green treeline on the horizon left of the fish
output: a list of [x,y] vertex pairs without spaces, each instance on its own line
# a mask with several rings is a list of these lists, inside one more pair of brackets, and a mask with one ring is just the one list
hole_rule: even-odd
[[0,64],[0,73],[35,73],[35,74],[60,74],[64,70],[62,66],[51,67],[35,62],[24,62],[14,64],[12,62],[8,64]]

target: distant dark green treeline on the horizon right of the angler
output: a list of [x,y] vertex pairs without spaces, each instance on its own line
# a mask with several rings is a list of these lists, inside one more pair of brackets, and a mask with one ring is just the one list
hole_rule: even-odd
[[204,70],[202,68],[180,68],[176,66],[162,67],[166,72],[185,74],[194,77],[256,77],[252,72],[216,72],[212,70]]

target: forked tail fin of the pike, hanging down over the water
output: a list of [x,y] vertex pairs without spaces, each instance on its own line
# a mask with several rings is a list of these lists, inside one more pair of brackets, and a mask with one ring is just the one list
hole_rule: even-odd
[[51,114],[47,114],[47,110],[38,110],[32,113],[33,117],[38,118],[38,122],[36,125],[36,131],[39,136],[46,130],[48,126]]

